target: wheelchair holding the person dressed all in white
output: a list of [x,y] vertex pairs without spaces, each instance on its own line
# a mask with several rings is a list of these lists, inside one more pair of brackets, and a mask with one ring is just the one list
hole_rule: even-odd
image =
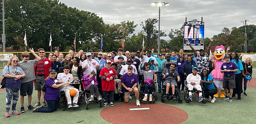
[[[188,86],[187,86],[187,81],[185,80],[184,81],[184,83],[185,83],[185,94],[184,94],[184,99],[185,99],[185,101],[186,101],[186,103],[190,103],[190,101],[191,100],[188,100],[188,97],[189,97],[189,94],[188,94],[188,92],[189,92],[189,90],[188,90]],[[203,84],[201,83],[200,84],[201,85],[201,89],[202,89],[202,97],[203,97],[203,100],[202,101],[200,101],[201,103],[203,103],[203,104],[205,104],[206,103],[206,100],[205,100],[205,98],[204,98],[204,87],[203,87]],[[197,94],[199,93],[199,91],[198,90],[196,90],[196,89],[193,89],[193,91],[192,92],[196,92]],[[192,95],[193,96],[193,95]]]

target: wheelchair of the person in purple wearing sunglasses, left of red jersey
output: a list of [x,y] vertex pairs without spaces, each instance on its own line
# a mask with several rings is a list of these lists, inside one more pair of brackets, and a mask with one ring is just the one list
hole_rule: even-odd
[[[81,83],[83,84],[83,89],[84,89],[84,91],[79,92],[79,96],[80,96],[82,99],[84,99],[84,101],[86,102],[86,106],[85,106],[85,107],[86,107],[86,110],[88,110],[89,104],[90,104],[90,103],[93,103],[94,101],[96,101],[96,103],[99,103],[100,108],[102,108],[103,103],[104,103],[105,100],[98,101],[97,97],[94,95],[94,101],[89,101],[89,99],[90,99],[90,97],[91,97],[91,92],[90,92],[89,90],[86,90],[85,84],[84,84],[83,81],[82,81]],[[99,94],[101,94],[101,93],[99,93]],[[101,97],[101,95],[100,95],[100,97]]]

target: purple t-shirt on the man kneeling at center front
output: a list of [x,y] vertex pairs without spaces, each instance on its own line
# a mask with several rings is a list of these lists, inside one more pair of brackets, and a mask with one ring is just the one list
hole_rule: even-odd
[[[127,73],[123,74],[121,82],[125,84],[126,87],[133,87],[133,85],[135,83],[138,83],[138,77],[136,74],[132,74],[131,76],[129,76]],[[122,87],[123,92],[128,92],[128,90],[126,90],[124,87]]]

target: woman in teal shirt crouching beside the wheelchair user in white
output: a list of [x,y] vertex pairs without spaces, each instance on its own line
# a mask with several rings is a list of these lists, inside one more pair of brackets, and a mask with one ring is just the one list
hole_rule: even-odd
[[216,94],[218,90],[214,85],[212,75],[209,74],[207,69],[203,69],[200,82],[203,83],[205,87],[204,97],[208,98],[208,101],[211,103],[214,103],[216,99],[213,95]]

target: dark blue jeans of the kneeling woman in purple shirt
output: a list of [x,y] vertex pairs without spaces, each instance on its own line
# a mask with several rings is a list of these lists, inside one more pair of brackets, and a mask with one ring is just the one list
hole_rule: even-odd
[[41,113],[52,113],[53,111],[56,111],[58,108],[59,100],[46,100],[47,107],[42,107],[38,109],[38,112]]

